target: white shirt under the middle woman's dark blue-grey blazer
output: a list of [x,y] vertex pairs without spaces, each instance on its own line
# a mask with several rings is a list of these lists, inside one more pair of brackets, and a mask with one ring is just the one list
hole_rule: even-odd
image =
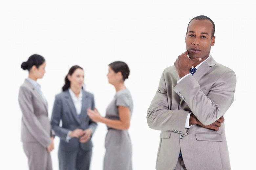
[[[76,110],[77,116],[79,116],[81,114],[81,110],[82,110],[83,91],[80,90],[78,97],[76,97],[75,93],[69,88],[69,94],[70,94],[72,101],[75,105],[75,110]],[[71,139],[71,137],[69,136],[71,132],[72,131],[70,130],[67,134],[67,137],[66,137],[67,142],[69,142],[69,140]]]

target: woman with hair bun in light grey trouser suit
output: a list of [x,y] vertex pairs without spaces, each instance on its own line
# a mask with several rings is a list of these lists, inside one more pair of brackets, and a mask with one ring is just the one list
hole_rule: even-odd
[[30,170],[52,170],[50,152],[53,150],[53,135],[48,119],[48,104],[36,82],[45,73],[45,59],[37,54],[21,64],[29,71],[29,77],[19,89],[19,105],[22,111],[21,141],[28,157]]

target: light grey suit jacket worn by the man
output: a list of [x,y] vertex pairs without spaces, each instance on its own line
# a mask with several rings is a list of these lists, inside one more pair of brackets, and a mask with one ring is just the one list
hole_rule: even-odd
[[148,108],[148,126],[161,130],[156,169],[173,170],[181,150],[189,170],[229,170],[224,123],[214,131],[186,129],[185,122],[189,112],[204,125],[223,116],[234,100],[235,73],[210,56],[193,76],[179,79],[174,66],[166,68]]

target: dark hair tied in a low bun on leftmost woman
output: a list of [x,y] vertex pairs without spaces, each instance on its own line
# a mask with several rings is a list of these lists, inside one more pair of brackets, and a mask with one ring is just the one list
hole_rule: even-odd
[[35,65],[36,68],[39,68],[39,66],[44,62],[45,62],[45,59],[43,56],[40,56],[38,54],[33,54],[32,56],[29,57],[27,61],[22,62],[21,68],[23,70],[30,71],[33,65]]

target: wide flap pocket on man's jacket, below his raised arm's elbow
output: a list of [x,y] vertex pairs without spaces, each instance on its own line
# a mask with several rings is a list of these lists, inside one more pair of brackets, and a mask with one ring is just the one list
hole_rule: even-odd
[[218,132],[195,132],[197,141],[222,142],[222,136]]

